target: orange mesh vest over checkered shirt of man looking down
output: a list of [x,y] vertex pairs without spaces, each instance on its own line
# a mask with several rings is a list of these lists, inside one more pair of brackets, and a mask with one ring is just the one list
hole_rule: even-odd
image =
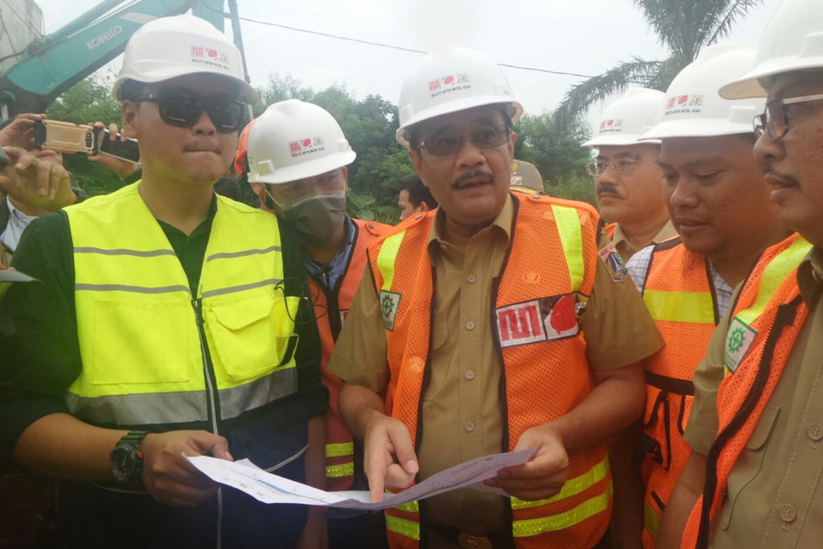
[[718,323],[708,260],[679,237],[657,244],[643,281],[643,300],[666,341],[644,361],[646,412],[644,547],[654,547],[663,509],[691,454],[683,431],[695,398],[692,378]]

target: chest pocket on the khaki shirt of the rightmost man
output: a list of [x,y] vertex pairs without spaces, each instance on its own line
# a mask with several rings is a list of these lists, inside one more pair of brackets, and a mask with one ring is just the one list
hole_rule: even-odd
[[[735,505],[746,492],[746,487],[750,486],[760,474],[760,469],[763,467],[763,456],[779,412],[779,407],[766,403],[763,415],[760,416],[760,421],[757,422],[755,430],[751,433],[746,448],[743,449],[740,458],[737,459],[735,467],[728,476],[728,495],[726,496],[728,500],[724,502],[720,513],[720,527],[723,530],[728,530],[731,525]],[[751,501],[758,500],[758,496],[754,493],[749,497]],[[768,503],[763,502],[762,505],[768,505]]]

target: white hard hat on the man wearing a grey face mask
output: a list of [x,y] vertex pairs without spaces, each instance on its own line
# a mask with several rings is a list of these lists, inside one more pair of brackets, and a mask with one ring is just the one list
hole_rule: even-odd
[[355,161],[328,111],[290,99],[271,105],[249,133],[249,183],[289,183]]

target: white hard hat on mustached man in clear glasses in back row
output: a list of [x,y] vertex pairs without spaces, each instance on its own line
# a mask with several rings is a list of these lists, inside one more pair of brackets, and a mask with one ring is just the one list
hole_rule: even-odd
[[648,88],[626,91],[603,111],[592,138],[581,147],[596,149],[604,145],[635,145],[640,136],[657,123],[663,96],[663,91]]

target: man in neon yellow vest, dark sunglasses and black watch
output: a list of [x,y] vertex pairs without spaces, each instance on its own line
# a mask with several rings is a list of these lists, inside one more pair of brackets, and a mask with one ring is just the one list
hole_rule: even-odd
[[328,393],[299,244],[212,192],[254,98],[240,67],[206,21],[143,26],[114,85],[142,181],[21,240],[14,266],[43,284],[2,302],[0,455],[63,479],[65,547],[298,542],[307,509],[221,489],[186,455],[322,486]]

